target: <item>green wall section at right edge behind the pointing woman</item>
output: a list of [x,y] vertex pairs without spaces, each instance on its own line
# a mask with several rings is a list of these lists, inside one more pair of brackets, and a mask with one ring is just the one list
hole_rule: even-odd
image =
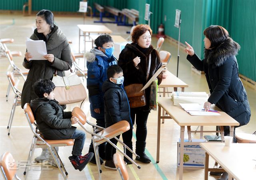
[[230,36],[240,44],[239,72],[256,81],[256,1],[233,0]]

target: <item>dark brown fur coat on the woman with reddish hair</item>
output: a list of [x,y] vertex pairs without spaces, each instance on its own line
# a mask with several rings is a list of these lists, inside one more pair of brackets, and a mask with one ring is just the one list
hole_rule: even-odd
[[[148,72],[148,60],[151,53],[151,66],[150,72],[147,79]],[[135,67],[132,61],[135,57],[140,57],[140,63],[138,68]],[[148,80],[154,75],[154,73],[162,66],[162,62],[159,57],[158,51],[154,49],[152,45],[148,47],[145,53],[142,53],[135,43],[127,44],[125,48],[119,55],[117,63],[124,72],[124,86],[129,84],[143,84],[143,86],[148,82]],[[162,82],[162,72],[157,76],[158,85]],[[138,109],[143,111],[150,111],[149,101],[150,101],[150,87],[145,90],[146,94],[146,106],[142,106]]]

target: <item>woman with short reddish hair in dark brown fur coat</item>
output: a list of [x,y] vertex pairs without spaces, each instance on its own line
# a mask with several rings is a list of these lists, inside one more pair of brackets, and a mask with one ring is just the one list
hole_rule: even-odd
[[[132,31],[133,43],[127,44],[120,53],[118,65],[123,69],[124,86],[135,83],[143,84],[144,86],[146,82],[154,75],[154,73],[162,66],[158,51],[156,51],[151,45],[151,35],[152,30],[148,25],[136,25]],[[151,63],[149,63],[150,55]],[[148,67],[150,67],[149,71]],[[162,72],[157,76],[157,78],[158,84],[160,84],[162,81]],[[136,160],[149,163],[151,160],[145,154],[145,147],[147,137],[146,124],[148,114],[150,113],[150,88],[145,90],[145,94],[146,106],[131,108],[130,112],[133,124],[136,114],[136,154],[140,156],[140,158],[136,158]],[[132,130],[130,133],[132,133]],[[129,151],[126,151],[126,154],[132,158],[132,154]]]

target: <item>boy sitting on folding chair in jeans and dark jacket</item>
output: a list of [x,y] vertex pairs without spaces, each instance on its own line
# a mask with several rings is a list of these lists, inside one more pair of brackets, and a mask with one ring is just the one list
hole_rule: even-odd
[[39,98],[32,100],[30,106],[39,131],[49,140],[75,139],[72,156],[68,158],[75,169],[82,171],[94,153],[82,156],[86,135],[72,126],[78,122],[78,118],[72,116],[71,112],[64,112],[58,101],[54,100],[55,85],[51,80],[40,79],[33,88]]

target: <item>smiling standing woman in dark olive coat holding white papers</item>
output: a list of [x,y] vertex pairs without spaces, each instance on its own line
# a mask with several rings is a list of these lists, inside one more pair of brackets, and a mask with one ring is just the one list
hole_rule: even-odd
[[[44,60],[33,59],[31,52],[25,53],[23,66],[29,69],[21,95],[21,107],[31,100],[38,98],[32,89],[32,85],[39,79],[52,80],[55,70],[59,76],[64,76],[64,70],[68,70],[68,64],[72,66],[72,56],[68,40],[60,28],[54,24],[54,16],[49,10],[41,10],[36,15],[36,29],[31,35],[32,40],[43,40],[46,43],[47,54]],[[48,163],[57,166],[53,158],[48,155],[48,150],[43,149],[41,155],[36,157],[37,162]]]

